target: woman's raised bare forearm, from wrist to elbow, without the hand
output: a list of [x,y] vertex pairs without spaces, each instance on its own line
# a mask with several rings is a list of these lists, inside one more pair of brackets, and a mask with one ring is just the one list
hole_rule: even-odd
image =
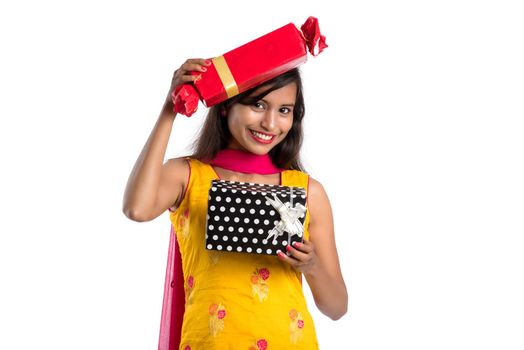
[[127,181],[123,212],[130,219],[140,219],[147,208],[155,204],[175,116],[172,102],[166,99],[158,120]]

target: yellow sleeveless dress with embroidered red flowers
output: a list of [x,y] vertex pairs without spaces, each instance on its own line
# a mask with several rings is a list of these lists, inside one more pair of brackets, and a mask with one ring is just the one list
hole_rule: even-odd
[[[188,159],[190,177],[170,211],[184,272],[181,350],[318,349],[302,292],[302,274],[276,256],[207,250],[205,224],[213,168]],[[281,185],[308,188],[308,175],[286,170]],[[309,239],[309,212],[304,237]]]

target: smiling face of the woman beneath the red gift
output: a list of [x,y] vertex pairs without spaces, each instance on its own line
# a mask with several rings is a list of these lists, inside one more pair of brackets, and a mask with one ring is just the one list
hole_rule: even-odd
[[[254,91],[259,94],[264,88]],[[255,154],[266,154],[278,145],[293,125],[297,85],[288,84],[271,91],[252,105],[235,103],[227,114],[231,132],[228,147]]]

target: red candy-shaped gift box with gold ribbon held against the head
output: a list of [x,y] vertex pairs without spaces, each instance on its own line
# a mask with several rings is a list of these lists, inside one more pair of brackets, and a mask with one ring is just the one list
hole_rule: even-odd
[[211,107],[301,65],[308,50],[316,56],[326,47],[316,18],[309,17],[301,30],[289,23],[212,58],[206,72],[192,72],[201,78],[173,91],[174,111],[189,117],[198,100]]

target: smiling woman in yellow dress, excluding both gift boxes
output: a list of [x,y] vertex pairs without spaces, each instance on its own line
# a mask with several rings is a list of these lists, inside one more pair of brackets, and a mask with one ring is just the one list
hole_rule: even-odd
[[[191,157],[165,151],[176,114],[171,92],[198,79],[210,62],[189,59],[175,71],[158,121],[128,180],[125,215],[150,221],[169,210],[179,244],[185,313],[179,349],[317,349],[302,274],[318,309],[347,312],[332,211],[322,185],[303,172],[304,100],[297,69],[211,107]],[[211,180],[307,189],[304,242],[278,257],[205,249]],[[164,300],[165,302],[165,300]]]

